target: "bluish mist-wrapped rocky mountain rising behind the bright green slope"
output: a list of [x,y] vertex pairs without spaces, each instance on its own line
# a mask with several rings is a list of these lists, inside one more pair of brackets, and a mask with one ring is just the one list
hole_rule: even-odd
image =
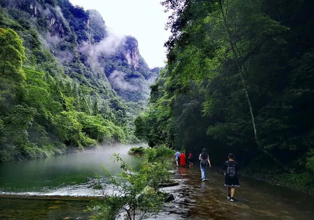
[[149,84],[156,74],[140,55],[138,41],[115,34],[96,10],[86,11],[69,0],[0,0],[0,4],[30,15],[27,19],[35,24],[43,44],[66,67],[66,74],[79,81],[79,75],[83,75],[96,86],[110,83],[127,101],[147,100]]

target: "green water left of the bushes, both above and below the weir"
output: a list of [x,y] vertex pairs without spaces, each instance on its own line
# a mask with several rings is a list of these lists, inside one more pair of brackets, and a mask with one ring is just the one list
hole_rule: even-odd
[[[121,172],[120,166],[110,160],[113,152],[120,153],[135,170],[138,168],[138,158],[127,154],[129,148],[0,163],[0,219],[89,219],[91,213],[84,209],[91,205],[92,196],[101,195],[93,189],[95,174],[104,174],[101,165],[111,174]],[[102,181],[110,191],[105,176]]]

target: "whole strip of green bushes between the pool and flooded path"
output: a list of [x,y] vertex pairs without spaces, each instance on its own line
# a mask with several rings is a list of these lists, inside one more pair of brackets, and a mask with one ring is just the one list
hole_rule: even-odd
[[[130,152],[130,151],[129,151]],[[113,185],[112,192],[105,192],[106,183],[100,176],[95,189],[103,194],[101,200],[92,201],[87,210],[95,211],[93,219],[146,219],[156,216],[165,202],[170,202],[174,196],[161,190],[162,184],[175,182],[169,172],[170,161],[174,151],[165,146],[157,148],[136,147],[132,154],[145,154],[138,171],[128,165],[119,154],[113,154],[113,161],[120,165],[122,173],[116,176],[103,167],[103,171]],[[134,153],[135,152],[135,153]]]

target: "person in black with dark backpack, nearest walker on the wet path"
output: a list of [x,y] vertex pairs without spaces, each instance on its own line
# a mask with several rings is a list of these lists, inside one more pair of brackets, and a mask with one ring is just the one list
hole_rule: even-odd
[[[234,201],[235,187],[240,187],[237,171],[240,170],[239,164],[234,160],[234,155],[228,155],[229,160],[224,163],[222,169],[225,171],[225,187],[227,187],[227,198]],[[230,195],[231,194],[231,195]]]

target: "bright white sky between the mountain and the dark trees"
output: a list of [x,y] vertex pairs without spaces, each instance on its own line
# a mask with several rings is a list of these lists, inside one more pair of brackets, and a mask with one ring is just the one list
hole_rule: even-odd
[[134,36],[140,54],[150,68],[164,66],[164,43],[170,32],[165,31],[168,19],[161,0],[70,0],[73,5],[100,12],[109,28],[117,33]]

